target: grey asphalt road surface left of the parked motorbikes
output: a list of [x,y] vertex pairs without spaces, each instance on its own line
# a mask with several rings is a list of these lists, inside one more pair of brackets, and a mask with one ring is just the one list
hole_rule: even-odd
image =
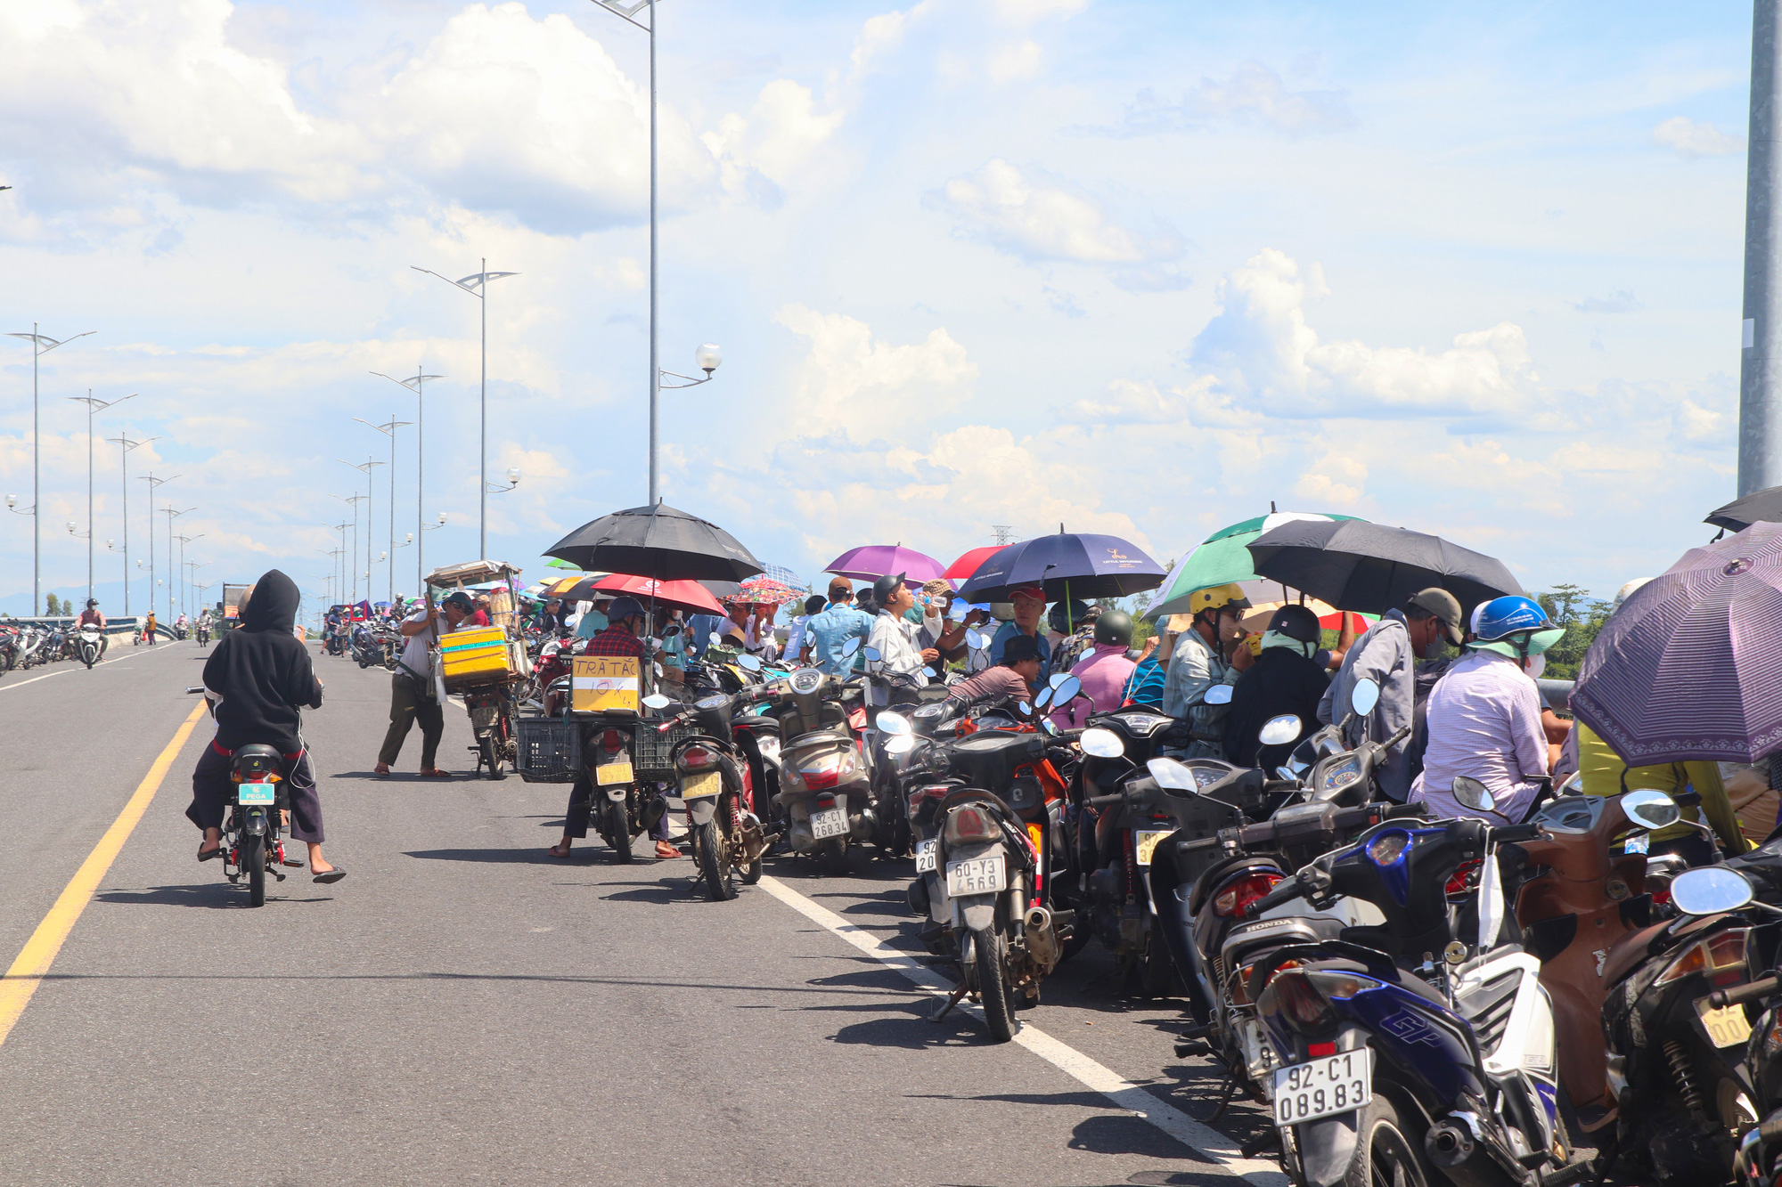
[[[0,679],[5,962],[192,709],[192,643],[110,654]],[[1098,945],[1025,1014],[1066,1055],[991,1044],[764,886],[706,902],[693,863],[645,841],[631,866],[597,838],[547,857],[567,786],[421,781],[419,733],[406,774],[372,777],[388,675],[317,670],[305,733],[347,879],[292,872],[249,911],[194,861],[200,720],[0,1043],[0,1183],[1242,1185],[1066,1069],[1190,1117],[1221,1085],[1171,1053],[1174,1005],[1123,996]],[[467,745],[449,711],[442,765],[469,770]],[[911,872],[768,861],[902,948]],[[1221,1128],[1263,1125],[1237,1105]]]

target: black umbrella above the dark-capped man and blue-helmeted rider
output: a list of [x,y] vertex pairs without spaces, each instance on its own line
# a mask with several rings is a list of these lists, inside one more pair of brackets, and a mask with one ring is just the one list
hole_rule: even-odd
[[1406,528],[1360,519],[1294,520],[1249,542],[1256,572],[1336,610],[1381,615],[1440,585],[1468,613],[1522,586],[1504,563]]

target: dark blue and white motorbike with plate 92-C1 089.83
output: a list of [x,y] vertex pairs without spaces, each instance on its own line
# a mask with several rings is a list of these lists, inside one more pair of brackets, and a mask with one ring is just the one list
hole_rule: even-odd
[[[1481,788],[1483,791],[1483,788]],[[1488,793],[1472,811],[1492,811]],[[1246,918],[1304,896],[1365,898],[1381,927],[1287,945],[1260,962],[1256,998],[1279,1059],[1271,1101],[1281,1164],[1301,1185],[1431,1182],[1554,1187],[1593,1175],[1574,1162],[1557,1107],[1554,1018],[1540,962],[1499,946],[1499,847],[1540,823],[1388,820],[1303,866]],[[1477,927],[1456,927],[1445,888],[1477,859]]]

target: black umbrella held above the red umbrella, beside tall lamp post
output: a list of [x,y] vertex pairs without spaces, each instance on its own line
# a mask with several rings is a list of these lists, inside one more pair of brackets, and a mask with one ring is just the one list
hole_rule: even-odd
[[583,524],[545,549],[545,556],[658,581],[741,581],[764,572],[723,528],[661,503]]

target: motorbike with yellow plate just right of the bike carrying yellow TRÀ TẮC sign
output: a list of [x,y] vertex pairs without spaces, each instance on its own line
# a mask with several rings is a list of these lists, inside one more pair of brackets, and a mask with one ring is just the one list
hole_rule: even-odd
[[[738,882],[759,882],[761,854],[773,843],[756,815],[748,759],[732,731],[736,709],[759,695],[759,688],[707,693],[656,727],[668,733],[683,722],[699,725],[699,733],[674,743],[672,754],[675,795],[686,804],[688,839],[711,900],[736,898]],[[674,702],[656,693],[643,704],[661,711]]]

